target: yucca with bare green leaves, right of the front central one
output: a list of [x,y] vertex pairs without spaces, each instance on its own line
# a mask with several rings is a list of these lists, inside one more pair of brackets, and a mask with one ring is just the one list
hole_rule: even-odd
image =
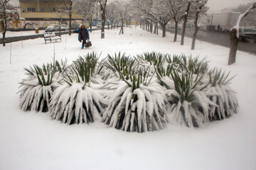
[[[158,71],[159,72],[159,71]],[[171,104],[171,117],[181,125],[198,128],[208,120],[208,108],[216,106],[210,101],[202,84],[202,77],[188,69],[181,72],[171,69],[170,77],[161,77],[161,84],[166,87],[166,96]]]

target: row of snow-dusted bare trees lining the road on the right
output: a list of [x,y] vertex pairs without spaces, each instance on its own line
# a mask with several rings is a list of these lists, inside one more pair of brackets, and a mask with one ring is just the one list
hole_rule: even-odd
[[[134,6],[134,16],[141,21],[141,27],[148,28],[151,33],[157,33],[158,24],[162,29],[162,36],[166,36],[166,25],[169,21],[175,23],[174,42],[177,40],[178,23],[183,22],[181,34],[181,45],[184,44],[184,35],[186,31],[186,22],[193,20],[195,32],[191,50],[195,49],[196,35],[198,33],[198,18],[206,15],[208,0],[132,0]],[[142,26],[146,24],[146,26]],[[156,30],[156,31],[155,31]]]

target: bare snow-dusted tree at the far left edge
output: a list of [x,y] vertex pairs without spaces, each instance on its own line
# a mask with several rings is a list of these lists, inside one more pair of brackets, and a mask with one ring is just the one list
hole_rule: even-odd
[[5,37],[6,37],[6,30],[7,30],[7,23],[11,21],[11,14],[16,10],[16,7],[11,6],[9,4],[10,0],[0,0],[0,21],[3,26],[2,34],[3,34],[3,46],[5,44]]

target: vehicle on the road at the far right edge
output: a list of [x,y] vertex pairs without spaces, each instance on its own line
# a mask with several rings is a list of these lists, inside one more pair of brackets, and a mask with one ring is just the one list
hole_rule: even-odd
[[256,42],[256,28],[254,27],[240,27],[239,40],[252,39]]

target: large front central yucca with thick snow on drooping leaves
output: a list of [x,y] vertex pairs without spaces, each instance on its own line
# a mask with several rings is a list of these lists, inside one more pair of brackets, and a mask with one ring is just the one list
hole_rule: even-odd
[[121,77],[123,79],[103,113],[105,123],[128,132],[164,128],[166,97],[159,84],[151,83],[149,71],[139,70]]

